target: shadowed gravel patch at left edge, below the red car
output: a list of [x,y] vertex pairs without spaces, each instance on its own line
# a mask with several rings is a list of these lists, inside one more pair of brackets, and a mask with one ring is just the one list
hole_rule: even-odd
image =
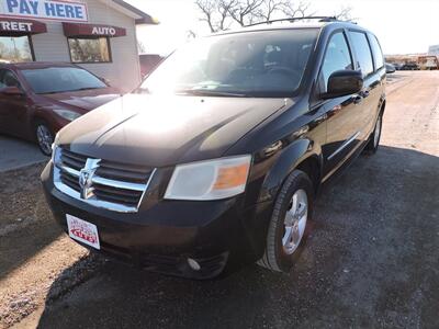
[[0,280],[63,232],[44,198],[43,168],[33,164],[0,173]]

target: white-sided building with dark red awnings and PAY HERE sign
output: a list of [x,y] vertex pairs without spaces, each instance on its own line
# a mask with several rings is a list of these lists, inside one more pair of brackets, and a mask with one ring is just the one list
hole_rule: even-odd
[[0,61],[70,61],[128,91],[140,81],[137,24],[122,0],[1,0]]

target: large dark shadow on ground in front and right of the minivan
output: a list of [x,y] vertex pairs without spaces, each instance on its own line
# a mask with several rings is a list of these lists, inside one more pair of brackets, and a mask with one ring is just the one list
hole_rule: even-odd
[[438,328],[438,157],[382,147],[324,188],[290,274],[194,282],[106,262],[48,298],[40,327]]

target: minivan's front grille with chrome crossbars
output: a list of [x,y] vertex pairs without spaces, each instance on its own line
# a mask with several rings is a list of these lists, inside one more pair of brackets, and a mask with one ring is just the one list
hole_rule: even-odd
[[[89,163],[92,168],[88,168]],[[87,193],[80,184],[81,170],[91,174]],[[136,212],[155,169],[105,159],[88,158],[68,149],[55,151],[55,186],[92,205],[120,212]]]

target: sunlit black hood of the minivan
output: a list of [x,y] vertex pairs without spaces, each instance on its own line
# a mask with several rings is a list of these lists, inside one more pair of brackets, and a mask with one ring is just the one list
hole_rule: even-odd
[[66,126],[58,143],[89,157],[154,167],[212,159],[288,102],[127,94]]

